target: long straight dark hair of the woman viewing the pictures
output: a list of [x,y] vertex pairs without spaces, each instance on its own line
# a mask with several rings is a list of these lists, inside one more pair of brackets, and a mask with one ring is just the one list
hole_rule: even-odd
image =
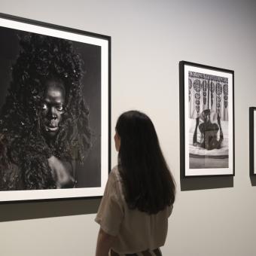
[[155,214],[175,201],[175,181],[163,157],[151,119],[126,111],[117,120],[118,169],[130,209]]

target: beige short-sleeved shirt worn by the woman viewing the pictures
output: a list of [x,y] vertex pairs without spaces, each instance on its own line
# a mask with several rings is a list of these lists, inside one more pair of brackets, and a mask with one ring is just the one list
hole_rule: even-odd
[[[154,187],[152,188],[154,189]],[[155,215],[129,209],[117,166],[111,170],[95,221],[102,230],[116,236],[112,249],[120,254],[153,250],[164,245],[172,206]]]

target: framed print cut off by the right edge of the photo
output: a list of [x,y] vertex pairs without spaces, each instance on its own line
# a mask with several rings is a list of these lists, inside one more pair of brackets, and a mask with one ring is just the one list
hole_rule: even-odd
[[249,108],[249,147],[250,147],[250,174],[256,175],[256,166],[255,166],[255,153],[256,153],[256,144],[255,144],[255,134],[256,134],[256,107]]

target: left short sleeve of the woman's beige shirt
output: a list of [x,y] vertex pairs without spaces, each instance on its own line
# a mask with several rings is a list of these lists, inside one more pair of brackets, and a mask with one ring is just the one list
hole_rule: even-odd
[[123,221],[123,206],[120,200],[120,190],[118,190],[117,182],[114,178],[114,173],[110,173],[95,218],[95,221],[100,225],[102,230],[111,236],[117,236],[120,230],[120,224]]

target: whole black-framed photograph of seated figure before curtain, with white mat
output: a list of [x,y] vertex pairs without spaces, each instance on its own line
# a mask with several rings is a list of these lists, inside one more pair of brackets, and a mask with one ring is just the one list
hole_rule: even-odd
[[234,175],[234,72],[179,62],[181,172]]

